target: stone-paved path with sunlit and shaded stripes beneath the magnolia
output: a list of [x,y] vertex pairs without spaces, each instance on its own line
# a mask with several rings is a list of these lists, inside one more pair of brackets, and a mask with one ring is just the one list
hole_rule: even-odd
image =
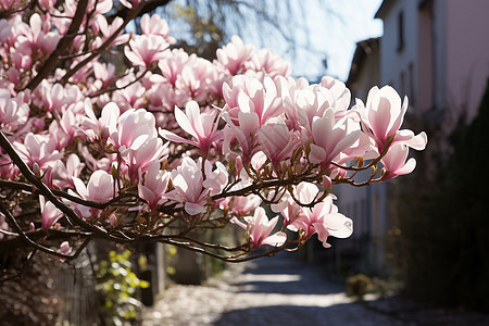
[[172,286],[145,311],[142,325],[489,325],[487,315],[467,319],[467,314],[447,315],[399,299],[358,303],[344,290],[317,267],[280,253],[233,264],[203,286]]

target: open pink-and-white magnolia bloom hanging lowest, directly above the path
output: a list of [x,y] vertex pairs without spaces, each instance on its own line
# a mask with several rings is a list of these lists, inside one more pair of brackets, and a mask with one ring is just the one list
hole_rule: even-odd
[[279,247],[287,240],[287,235],[283,231],[277,231],[272,236],[269,235],[278,223],[278,216],[268,221],[263,208],[256,208],[253,216],[247,216],[244,217],[244,221],[247,224],[234,217],[230,220],[230,223],[237,224],[239,227],[247,230],[247,236],[253,243],[253,250],[262,244]]

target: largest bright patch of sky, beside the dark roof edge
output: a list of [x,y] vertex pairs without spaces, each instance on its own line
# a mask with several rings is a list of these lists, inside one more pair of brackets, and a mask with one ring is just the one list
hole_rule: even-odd
[[[347,80],[356,42],[383,35],[381,21],[374,20],[381,0],[303,0],[300,3],[306,5],[305,33],[314,51],[299,50],[294,58],[281,53],[292,61],[292,75],[314,80],[327,74]],[[329,9],[325,11],[323,5]],[[322,63],[324,59],[327,59],[327,71]]]

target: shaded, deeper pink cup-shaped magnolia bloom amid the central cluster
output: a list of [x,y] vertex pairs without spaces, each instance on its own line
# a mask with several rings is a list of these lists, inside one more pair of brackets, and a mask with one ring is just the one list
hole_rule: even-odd
[[274,167],[292,154],[300,145],[299,137],[289,131],[285,124],[267,124],[260,128],[259,141]]

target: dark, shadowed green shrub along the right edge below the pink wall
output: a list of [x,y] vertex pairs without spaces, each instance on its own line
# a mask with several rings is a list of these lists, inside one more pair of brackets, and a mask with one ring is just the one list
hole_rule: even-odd
[[394,211],[402,235],[393,256],[416,299],[489,311],[488,125],[489,87],[478,115],[452,134],[453,152],[421,158],[419,166],[435,168],[399,180]]

